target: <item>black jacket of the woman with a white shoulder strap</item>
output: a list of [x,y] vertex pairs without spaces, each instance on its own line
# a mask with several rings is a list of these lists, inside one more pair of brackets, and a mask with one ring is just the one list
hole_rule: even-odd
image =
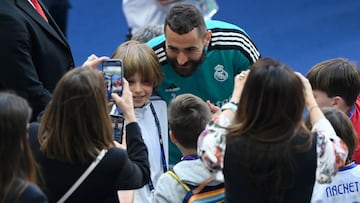
[[[44,181],[41,188],[49,202],[56,202],[70,189],[93,160],[84,164],[69,164],[48,159],[40,151],[37,132],[38,124],[32,123],[29,127],[29,141],[41,168]],[[135,122],[126,125],[126,144],[126,151],[116,147],[109,149],[66,202],[115,203],[119,202],[118,190],[138,189],[148,183],[150,179],[148,152],[140,127]]]

